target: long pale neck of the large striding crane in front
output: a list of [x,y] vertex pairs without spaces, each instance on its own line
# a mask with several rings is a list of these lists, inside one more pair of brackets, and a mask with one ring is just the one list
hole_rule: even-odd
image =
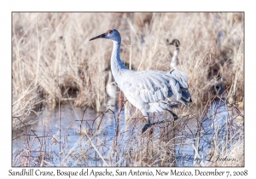
[[125,72],[125,70],[127,69],[120,59],[120,55],[119,55],[120,47],[121,47],[121,40],[113,41],[113,51],[111,55],[111,71],[113,73],[113,78],[117,84],[119,84],[119,81],[121,80],[120,78],[123,72]]

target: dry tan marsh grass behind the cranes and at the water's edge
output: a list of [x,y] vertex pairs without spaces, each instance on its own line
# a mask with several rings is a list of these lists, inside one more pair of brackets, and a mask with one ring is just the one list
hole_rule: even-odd
[[[189,91],[193,104],[177,109],[178,116],[183,118],[179,127],[187,127],[185,124],[188,123],[184,121],[189,119],[184,118],[185,116],[193,114],[197,121],[200,121],[204,111],[218,93],[216,89],[212,90],[212,87],[220,82],[225,89],[222,96],[230,104],[230,110],[239,110],[243,122],[243,13],[13,13],[12,15],[12,115],[20,118],[20,120],[13,118],[14,129],[20,128],[22,126],[20,121],[25,121],[30,113],[37,113],[42,106],[54,108],[58,102],[67,99],[73,100],[74,106],[90,106],[102,112],[107,101],[105,84],[108,77],[108,73],[103,71],[110,64],[113,44],[107,40],[89,42],[89,39],[111,28],[118,29],[122,37],[121,59],[130,66],[135,66],[138,71],[148,69],[170,71],[174,49],[167,45],[167,41],[170,42],[173,38],[180,41],[177,68],[189,77]],[[125,107],[130,107],[129,102],[125,103]],[[131,114],[131,118],[140,116],[139,113]],[[85,127],[86,129],[89,128]],[[168,129],[170,134],[174,133],[174,128]],[[104,156],[108,159],[108,165],[120,165],[116,153],[118,150],[125,153],[127,165],[173,165],[172,162],[175,161],[172,160],[172,141],[176,138],[166,136],[165,140],[160,140],[165,136],[165,130],[160,126],[157,131],[156,134],[159,136],[154,136],[155,140],[149,140],[149,134],[146,136],[148,143],[145,141],[139,144],[132,135],[125,138],[130,147],[132,144],[137,148],[132,148],[131,153],[131,148],[113,147],[108,157]],[[230,138],[232,135],[234,134],[230,134]],[[119,137],[119,133],[116,133],[115,137]],[[218,140],[215,143],[218,144]],[[229,155],[239,156],[236,164],[219,163],[218,165],[244,165],[241,158],[242,143],[243,141],[240,140],[229,150],[224,151]],[[88,147],[86,151],[94,152],[97,148],[90,145],[84,147]],[[127,151],[130,151],[131,155],[128,153],[126,156]],[[83,154],[81,150],[76,153],[80,153],[81,156]],[[113,156],[116,158],[113,159]],[[171,164],[168,162],[171,161],[170,159]],[[78,160],[84,159],[78,157]],[[22,159],[19,161],[21,161],[20,165],[27,165],[26,160],[25,163]],[[105,161],[105,158],[102,161]]]

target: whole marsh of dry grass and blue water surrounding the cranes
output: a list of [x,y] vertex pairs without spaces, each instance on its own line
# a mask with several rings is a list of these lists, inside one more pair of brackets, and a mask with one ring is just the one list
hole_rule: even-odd
[[[244,166],[243,13],[12,16],[13,165]],[[175,109],[176,122],[154,114],[165,122],[142,135],[145,119],[120,91],[106,105],[113,44],[89,39],[111,28],[122,36],[122,61],[137,71],[170,71],[167,44],[180,41],[177,69],[193,103]]]

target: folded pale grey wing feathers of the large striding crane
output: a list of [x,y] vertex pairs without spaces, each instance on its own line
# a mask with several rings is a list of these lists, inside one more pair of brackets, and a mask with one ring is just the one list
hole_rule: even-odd
[[132,72],[125,76],[120,89],[128,99],[130,98],[129,101],[137,102],[140,106],[145,103],[151,106],[157,104],[164,109],[166,104],[170,105],[172,102],[177,104],[177,101],[188,105],[191,97],[188,87],[186,74],[172,70],[171,72]]

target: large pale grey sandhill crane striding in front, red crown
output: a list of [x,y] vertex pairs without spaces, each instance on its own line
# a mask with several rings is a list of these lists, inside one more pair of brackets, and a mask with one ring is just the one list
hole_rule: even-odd
[[179,107],[179,102],[184,105],[189,105],[189,102],[191,102],[187,75],[177,69],[172,69],[171,72],[154,70],[136,72],[128,70],[119,56],[121,46],[119,32],[116,29],[108,30],[95,38],[90,38],[90,40],[97,38],[106,38],[113,41],[111,55],[113,78],[128,101],[148,119],[148,124],[143,126],[143,132],[154,125],[154,123],[151,123],[149,113],[166,110],[172,113],[174,120],[176,120],[177,115],[172,112],[172,108]]

